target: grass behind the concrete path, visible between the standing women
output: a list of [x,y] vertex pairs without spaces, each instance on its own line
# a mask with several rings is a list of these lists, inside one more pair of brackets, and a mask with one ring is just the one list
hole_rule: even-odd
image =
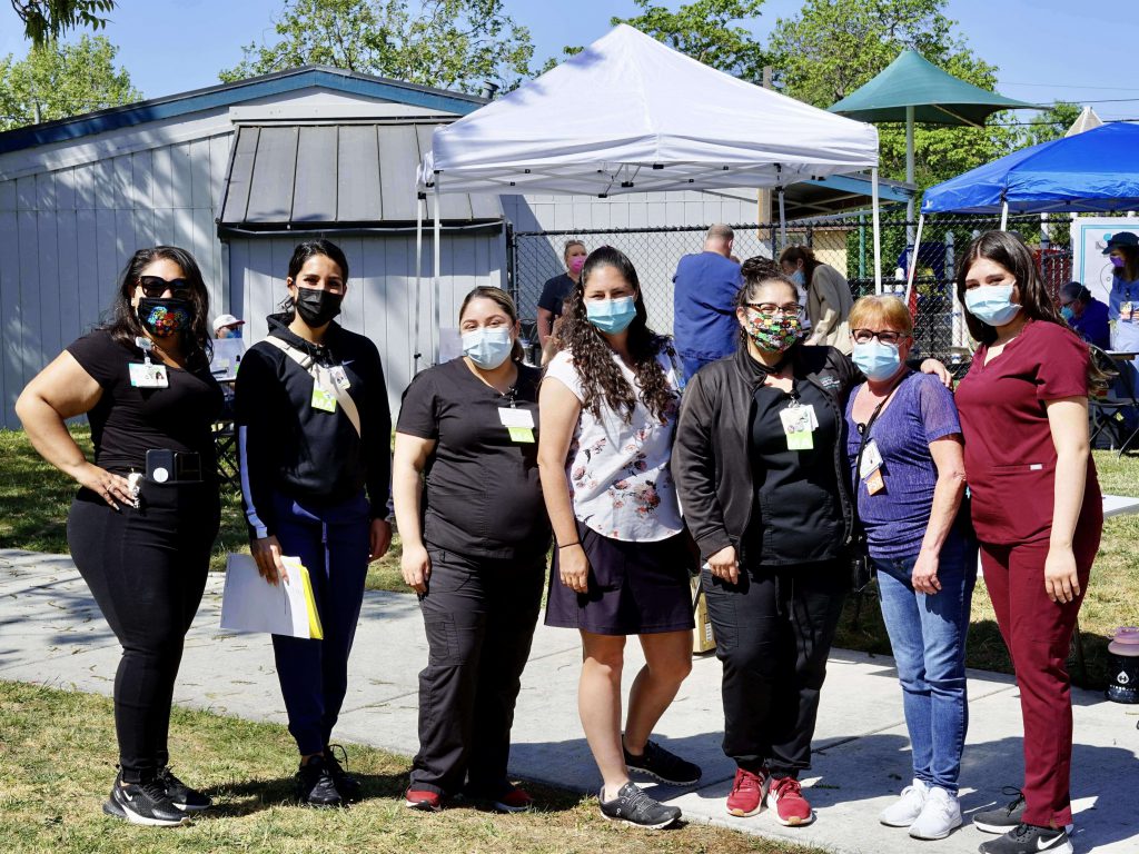
[[[87,428],[75,427],[73,435],[90,455]],[[1104,492],[1139,494],[1139,457],[1116,459],[1108,451],[1096,451],[1095,457]],[[65,553],[67,508],[74,493],[75,485],[43,462],[23,433],[0,432],[0,548]],[[1091,585],[1080,611],[1090,687],[1106,684],[1107,643],[1116,626],[1139,624],[1139,597],[1134,593],[1139,590],[1139,561],[1133,557],[1137,542],[1139,515],[1116,517],[1105,524]],[[223,568],[226,553],[236,550],[248,551],[241,500],[236,491],[226,490],[211,568]],[[410,592],[400,575],[399,535],[387,556],[371,565],[367,584],[370,590]],[[846,606],[836,644],[888,655],[890,640],[877,602],[863,601],[858,621],[854,607],[853,602]],[[973,598],[968,664],[980,670],[1011,671],[984,585],[978,585]]]

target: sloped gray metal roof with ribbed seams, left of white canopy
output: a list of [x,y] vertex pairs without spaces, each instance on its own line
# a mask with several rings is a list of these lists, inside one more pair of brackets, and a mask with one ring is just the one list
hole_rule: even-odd
[[[439,121],[239,125],[220,233],[407,228],[416,167]],[[426,219],[433,200],[428,198]],[[497,225],[497,196],[440,196],[444,225]]]

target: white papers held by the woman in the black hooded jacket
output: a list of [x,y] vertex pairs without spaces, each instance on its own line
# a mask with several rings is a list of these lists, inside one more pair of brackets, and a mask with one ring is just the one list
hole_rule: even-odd
[[289,580],[270,584],[252,555],[230,555],[221,599],[221,627],[231,632],[269,632],[310,638],[309,610],[300,558],[281,557]]

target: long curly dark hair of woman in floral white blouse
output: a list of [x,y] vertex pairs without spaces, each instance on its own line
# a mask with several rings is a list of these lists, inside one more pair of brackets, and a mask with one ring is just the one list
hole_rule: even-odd
[[632,420],[633,409],[637,407],[633,387],[614,361],[613,351],[605,337],[589,322],[585,314],[585,286],[593,271],[603,266],[614,268],[637,293],[634,297],[637,317],[629,325],[629,355],[633,361],[633,373],[640,385],[640,400],[652,416],[661,419],[663,424],[669,407],[677,399],[677,393],[669,387],[667,377],[657,356],[665,352],[672,358],[672,345],[667,337],[657,335],[648,328],[648,313],[645,311],[637,270],[623,252],[612,246],[601,246],[589,254],[581,270],[581,279],[566,297],[562,310],[562,326],[558,334],[562,345],[573,354],[574,367],[581,377],[582,392],[585,395],[582,405],[596,418],[600,417],[601,407],[608,405],[626,424]]

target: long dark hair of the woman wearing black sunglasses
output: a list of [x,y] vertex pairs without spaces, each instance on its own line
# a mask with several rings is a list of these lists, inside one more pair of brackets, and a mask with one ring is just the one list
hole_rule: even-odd
[[194,260],[186,249],[178,246],[153,246],[148,249],[139,249],[126,263],[122,277],[118,280],[118,289],[115,291],[115,301],[110,305],[110,318],[103,325],[103,329],[110,332],[110,337],[120,344],[129,347],[137,347],[136,338],[146,337],[146,329],[139,320],[138,311],[131,305],[134,290],[139,284],[139,276],[155,261],[166,260],[178,264],[182,269],[182,278],[189,282],[189,293],[186,295],[190,304],[190,334],[182,339],[186,347],[186,359],[200,358],[208,362],[213,355],[211,344],[210,325],[210,291],[206,290],[205,281],[202,279],[202,270],[198,262]]

